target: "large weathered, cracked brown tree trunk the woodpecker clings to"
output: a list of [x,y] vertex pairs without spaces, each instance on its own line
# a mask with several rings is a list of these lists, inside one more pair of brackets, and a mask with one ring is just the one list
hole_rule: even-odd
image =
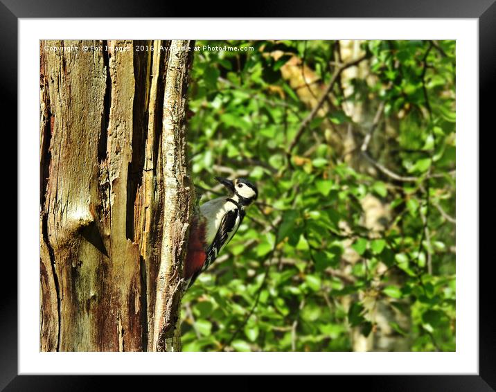
[[192,45],[40,44],[42,351],[180,349]]

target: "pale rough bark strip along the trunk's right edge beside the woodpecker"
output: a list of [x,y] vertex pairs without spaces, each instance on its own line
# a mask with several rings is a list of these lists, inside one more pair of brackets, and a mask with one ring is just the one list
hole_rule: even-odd
[[182,296],[182,265],[193,197],[193,183],[186,160],[186,93],[191,51],[190,41],[174,41],[170,46],[163,98],[162,173],[165,184],[161,260],[157,278],[154,317],[154,350],[180,350],[179,305]]

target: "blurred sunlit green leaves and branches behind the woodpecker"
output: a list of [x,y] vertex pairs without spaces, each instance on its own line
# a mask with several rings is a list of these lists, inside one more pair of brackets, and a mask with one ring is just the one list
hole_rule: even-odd
[[254,51],[195,53],[200,203],[215,175],[260,196],[187,292],[183,349],[455,350],[455,42],[204,44]]

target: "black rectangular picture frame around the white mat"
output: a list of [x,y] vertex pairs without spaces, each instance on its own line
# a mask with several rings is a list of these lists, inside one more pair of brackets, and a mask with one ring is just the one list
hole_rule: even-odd
[[[163,10],[161,10],[163,8]],[[232,15],[232,4],[196,3],[186,9],[181,3],[166,4],[159,1],[130,0],[67,1],[67,0],[0,0],[0,48],[2,60],[1,91],[8,97],[3,103],[4,113],[17,125],[17,42],[19,18],[44,17],[219,17]],[[495,0],[347,0],[347,1],[296,1],[276,0],[270,3],[251,1],[243,10],[246,17],[391,17],[391,18],[477,18],[479,20],[479,128],[494,130],[490,116],[494,112],[496,75],[496,3]],[[231,15],[230,15],[231,14]],[[42,35],[42,33],[40,33]],[[61,33],[63,35],[63,33]],[[492,110],[491,110],[492,109]],[[7,116],[5,116],[7,117]],[[4,118],[5,118],[4,117]],[[4,132],[6,128],[4,128]],[[13,132],[10,132],[13,133]],[[479,132],[480,134],[480,132]],[[480,151],[479,151],[480,154]],[[480,155],[479,155],[480,157]],[[494,165],[494,163],[493,163]],[[483,166],[480,166],[482,169]],[[481,178],[479,176],[479,178]],[[484,177],[482,177],[484,178]],[[22,181],[17,178],[17,181]],[[482,195],[479,193],[479,195]],[[19,211],[19,204],[17,209]],[[488,235],[492,230],[479,231]],[[19,233],[21,235],[21,233]],[[104,380],[112,382],[113,389],[129,377],[18,375],[17,372],[17,265],[6,257],[3,262],[3,285],[0,296],[0,390],[5,391],[89,391],[103,389]],[[479,374],[478,375],[375,375],[341,376],[347,389],[364,388],[378,391],[495,391],[496,390],[496,324],[494,313],[495,294],[490,266],[493,258],[480,258],[479,262]],[[9,278],[6,278],[9,277]],[[8,286],[10,284],[10,287]],[[387,372],[387,369],[384,369]],[[194,373],[194,369],[191,369]],[[57,369],[53,369],[57,373]],[[219,369],[218,373],[222,373]],[[240,369],[242,373],[242,369]],[[112,378],[112,380],[109,380]],[[161,376],[141,377],[142,390],[151,384],[162,383]],[[144,380],[143,380],[144,379]],[[185,380],[184,378],[182,380]],[[191,377],[188,378],[191,384]],[[228,382],[231,384],[231,382]],[[259,382],[243,383],[245,388]],[[216,383],[216,386],[219,386]],[[233,384],[231,384],[233,386]],[[200,386],[199,386],[200,387]],[[330,387],[330,386],[329,386]],[[5,388],[5,389],[4,389]]]

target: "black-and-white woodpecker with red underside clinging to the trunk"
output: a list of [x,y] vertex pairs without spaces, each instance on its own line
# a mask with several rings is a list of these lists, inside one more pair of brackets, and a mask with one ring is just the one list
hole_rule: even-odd
[[245,217],[245,209],[258,197],[255,184],[247,179],[215,179],[227,188],[228,195],[202,204],[193,217],[184,263],[185,290],[233,238]]

